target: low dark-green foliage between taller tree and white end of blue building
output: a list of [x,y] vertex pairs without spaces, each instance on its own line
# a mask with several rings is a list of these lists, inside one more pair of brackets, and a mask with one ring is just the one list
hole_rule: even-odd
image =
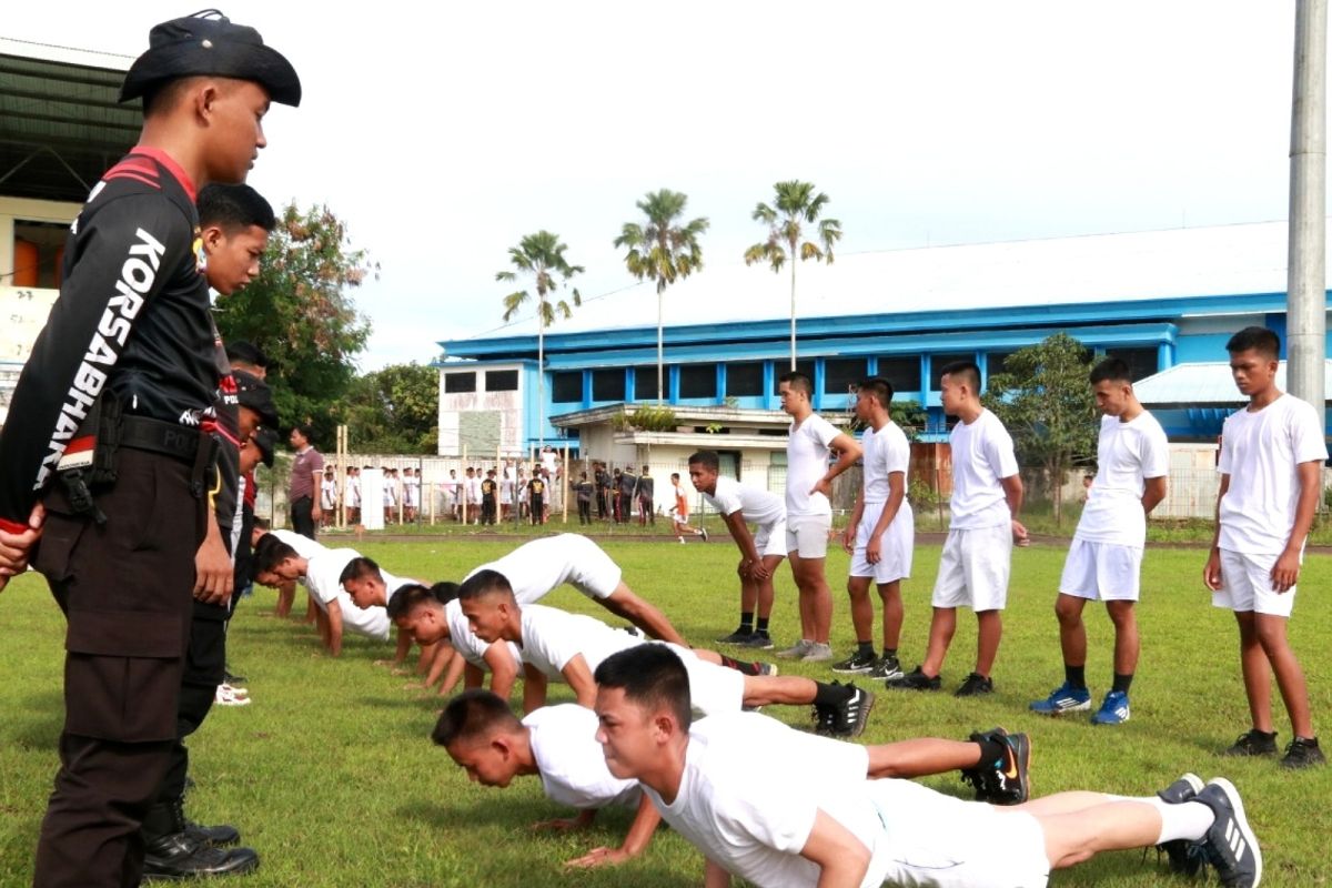
[[440,441],[440,371],[413,362],[357,377],[340,415],[356,453],[433,454]]

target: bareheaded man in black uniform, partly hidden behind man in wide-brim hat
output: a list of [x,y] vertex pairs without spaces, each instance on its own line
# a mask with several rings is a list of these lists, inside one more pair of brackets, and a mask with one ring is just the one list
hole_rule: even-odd
[[[208,258],[208,284],[218,296],[232,296],[258,274],[269,232],[277,225],[273,208],[249,185],[221,184],[204,188],[198,193],[197,206]],[[224,849],[224,845],[240,841],[240,832],[234,827],[201,827],[192,823],[184,809],[189,767],[184,740],[208,718],[217,686],[222,683],[226,668],[226,620],[232,615],[234,594],[240,590],[234,583],[236,566],[241,547],[246,553],[249,550],[249,537],[241,526],[240,443],[250,441],[261,425],[269,429],[277,429],[278,425],[277,411],[264,382],[249,373],[234,370],[226,378],[232,385],[224,382],[214,403],[220,447],[214,483],[208,490],[216,519],[209,523],[209,529],[212,531],[216,523],[218,533],[209,533],[205,538],[196,555],[196,566],[205,558],[225,556],[233,566],[233,583],[225,596],[194,595],[176,716],[177,740],[157,800],[144,819],[145,876],[241,873],[258,867],[254,851]]]

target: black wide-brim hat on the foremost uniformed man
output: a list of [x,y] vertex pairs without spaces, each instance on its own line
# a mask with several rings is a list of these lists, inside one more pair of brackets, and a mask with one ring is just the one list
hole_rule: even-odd
[[209,75],[252,80],[276,103],[301,104],[301,80],[292,63],[265,47],[258,31],[232,24],[217,9],[153,27],[148,32],[148,52],[125,75],[120,101],[139,99],[169,80]]

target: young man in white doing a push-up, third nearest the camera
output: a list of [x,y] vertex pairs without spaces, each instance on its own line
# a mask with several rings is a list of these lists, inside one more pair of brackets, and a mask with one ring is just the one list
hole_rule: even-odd
[[[578,703],[591,708],[597,698],[591,678],[597,666],[617,651],[654,643],[582,614],[541,604],[519,606],[507,580],[494,571],[482,571],[465,582],[458,588],[458,600],[477,638],[518,646],[523,663],[523,710],[527,712],[545,706],[550,679],[566,682]],[[746,663],[713,651],[667,646],[689,670],[694,704],[703,712],[777,703],[813,704],[817,731],[859,736],[874,707],[874,695],[854,684],[778,676],[777,670],[766,663]]]

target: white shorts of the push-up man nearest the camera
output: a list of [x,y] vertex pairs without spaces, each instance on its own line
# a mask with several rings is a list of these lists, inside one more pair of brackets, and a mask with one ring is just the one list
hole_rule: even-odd
[[[1040,821],[910,780],[870,780],[884,823],[864,884],[1042,888],[1050,877]],[[962,839],[959,839],[962,837]]]

